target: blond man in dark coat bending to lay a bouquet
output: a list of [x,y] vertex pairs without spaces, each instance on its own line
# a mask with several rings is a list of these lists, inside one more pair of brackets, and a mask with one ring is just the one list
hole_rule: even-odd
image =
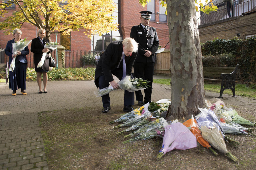
[[[107,49],[99,59],[95,70],[95,85],[99,89],[109,86],[109,82],[114,89],[118,89],[119,85],[113,79],[115,75],[119,80],[123,76],[123,56],[125,55],[126,75],[131,74],[134,60],[137,56],[138,44],[132,38],[126,38],[123,41],[114,41],[107,46]],[[109,94],[101,96],[103,109],[102,112],[109,112],[110,97]],[[131,105],[134,105],[134,92],[125,90],[123,111],[130,112],[133,110]]]

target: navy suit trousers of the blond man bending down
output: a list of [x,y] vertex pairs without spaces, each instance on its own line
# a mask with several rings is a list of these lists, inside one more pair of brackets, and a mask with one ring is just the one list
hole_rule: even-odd
[[[123,68],[116,68],[115,70],[111,71],[112,75],[115,75],[119,80],[123,77]],[[132,75],[131,75],[132,76]],[[102,75],[99,78],[99,89],[103,89],[105,87],[109,87],[109,82],[106,81],[105,76]],[[102,98],[102,105],[104,108],[110,106],[110,97],[109,94],[101,96]],[[124,105],[134,105],[134,92],[128,92],[125,90],[124,95]]]

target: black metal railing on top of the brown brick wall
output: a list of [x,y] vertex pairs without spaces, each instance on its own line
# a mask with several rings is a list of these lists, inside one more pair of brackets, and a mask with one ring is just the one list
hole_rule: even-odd
[[234,16],[246,15],[246,13],[256,10],[256,0],[234,1],[233,5],[222,2],[216,4],[215,6],[218,7],[217,11],[212,11],[210,14],[204,14],[202,12],[200,13],[201,17],[199,25],[212,23]]

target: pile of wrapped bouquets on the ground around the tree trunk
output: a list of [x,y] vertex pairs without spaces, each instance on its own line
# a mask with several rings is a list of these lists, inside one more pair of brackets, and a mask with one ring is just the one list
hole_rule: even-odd
[[238,162],[238,158],[227,150],[226,142],[234,145],[239,145],[239,143],[227,137],[226,134],[256,136],[251,134],[251,128],[244,127],[244,125],[255,126],[255,122],[239,116],[235,110],[227,108],[223,101],[217,101],[214,104],[206,101],[206,107],[198,108],[200,113],[195,118],[192,115],[189,120],[176,119],[167,122],[162,113],[167,111],[171,104],[168,100],[170,99],[147,103],[124,114],[110,122],[110,124],[119,123],[111,129],[127,127],[117,133],[118,135],[124,134],[126,139],[129,138],[123,141],[123,144],[154,137],[163,138],[163,144],[159,146],[160,151],[156,155],[158,159],[171,150],[197,147],[198,142],[214,155],[219,155],[217,152],[219,151],[234,162]]

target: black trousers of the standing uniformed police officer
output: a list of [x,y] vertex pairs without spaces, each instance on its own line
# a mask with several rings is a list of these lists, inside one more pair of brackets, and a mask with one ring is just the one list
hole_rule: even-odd
[[[148,87],[144,90],[145,96],[144,101],[148,102],[151,101],[151,94],[152,94],[152,82],[153,82],[153,75],[154,75],[154,65],[155,63],[139,63],[134,62],[133,69],[134,69],[134,77],[142,78],[143,80],[149,81]],[[143,100],[143,95],[141,90],[135,91],[136,100]]]

